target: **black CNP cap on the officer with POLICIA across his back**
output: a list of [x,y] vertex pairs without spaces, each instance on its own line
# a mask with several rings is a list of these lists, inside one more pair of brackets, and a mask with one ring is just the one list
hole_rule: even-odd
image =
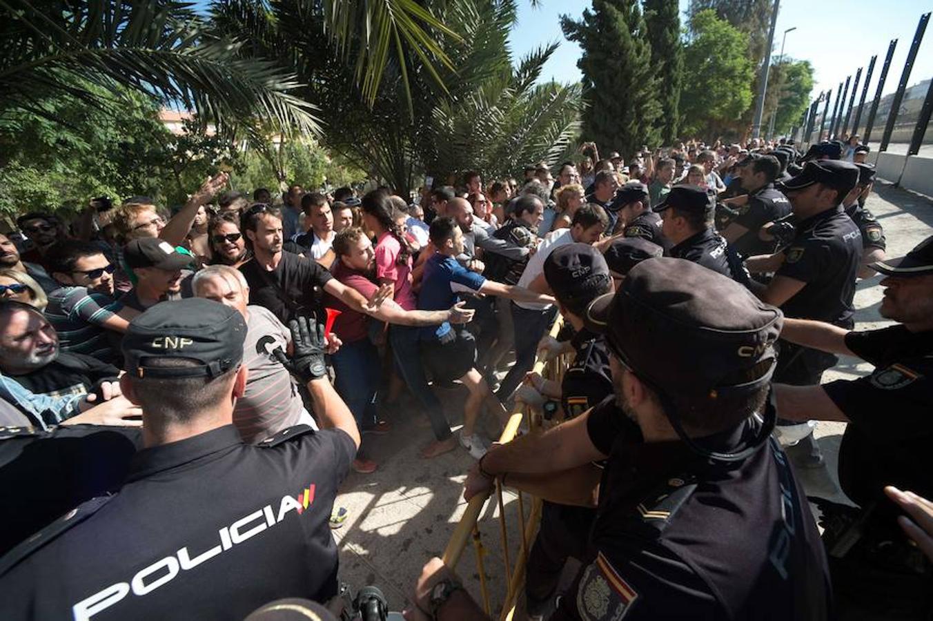
[[[246,323],[239,311],[202,297],[161,302],[133,318],[123,336],[126,370],[138,378],[216,378],[243,360]],[[186,358],[199,366],[147,366]]]

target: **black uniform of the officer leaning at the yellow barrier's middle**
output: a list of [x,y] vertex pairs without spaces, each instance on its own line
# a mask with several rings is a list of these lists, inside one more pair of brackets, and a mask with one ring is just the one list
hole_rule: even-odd
[[[613,398],[612,373],[606,337],[581,329],[570,340],[576,356],[561,381],[564,420],[577,418],[591,407]],[[597,464],[602,467],[603,463]],[[530,614],[550,598],[566,559],[584,559],[595,509],[544,501],[535,544],[528,556],[525,593]]]

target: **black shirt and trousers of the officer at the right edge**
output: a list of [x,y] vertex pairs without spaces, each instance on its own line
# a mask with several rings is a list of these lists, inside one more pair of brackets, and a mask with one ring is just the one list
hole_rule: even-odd
[[933,498],[933,331],[892,325],[850,332],[845,345],[875,368],[868,377],[823,385],[851,421],[839,480],[862,507],[857,519],[829,520],[824,535],[836,599],[841,612],[928,619],[933,568],[900,530],[900,510],[883,490],[893,485]]

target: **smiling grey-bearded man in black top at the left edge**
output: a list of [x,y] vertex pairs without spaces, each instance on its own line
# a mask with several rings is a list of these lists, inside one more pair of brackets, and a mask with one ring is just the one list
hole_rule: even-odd
[[26,390],[50,397],[93,393],[119,376],[116,366],[61,352],[58,334],[42,313],[13,301],[0,303],[0,372]]

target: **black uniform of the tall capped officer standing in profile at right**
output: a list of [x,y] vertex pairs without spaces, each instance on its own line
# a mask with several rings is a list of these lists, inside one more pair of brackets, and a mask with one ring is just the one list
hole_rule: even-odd
[[[842,205],[801,220],[776,275],[805,284],[781,310],[787,317],[851,329],[861,258],[861,234]],[[838,361],[834,354],[782,342],[774,381],[795,386],[818,384],[823,371]]]

